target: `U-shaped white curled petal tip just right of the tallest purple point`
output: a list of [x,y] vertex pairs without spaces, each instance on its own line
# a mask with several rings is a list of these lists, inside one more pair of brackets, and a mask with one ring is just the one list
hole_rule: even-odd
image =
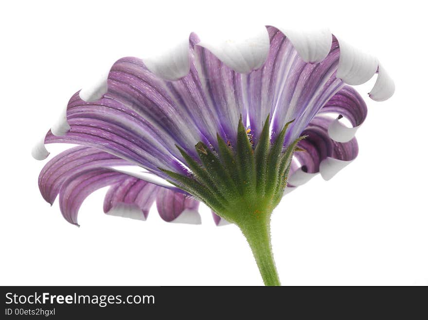
[[304,62],[319,63],[330,52],[333,37],[328,28],[318,30],[277,29],[290,40]]

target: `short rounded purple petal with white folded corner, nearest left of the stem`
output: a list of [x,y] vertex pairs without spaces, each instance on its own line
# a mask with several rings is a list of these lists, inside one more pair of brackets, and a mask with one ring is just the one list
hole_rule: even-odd
[[197,212],[199,201],[189,195],[160,188],[156,197],[156,206],[160,218],[167,222],[201,223]]

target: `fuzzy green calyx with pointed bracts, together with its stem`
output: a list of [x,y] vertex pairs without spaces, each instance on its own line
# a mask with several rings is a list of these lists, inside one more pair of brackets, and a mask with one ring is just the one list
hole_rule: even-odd
[[279,285],[270,250],[270,215],[281,201],[293,153],[300,151],[297,143],[304,138],[284,148],[285,133],[291,122],[271,142],[267,116],[253,146],[240,119],[235,150],[217,135],[218,150],[202,142],[196,144],[198,161],[177,146],[191,170],[187,176],[162,169],[173,179],[171,183],[242,230],[266,285]]

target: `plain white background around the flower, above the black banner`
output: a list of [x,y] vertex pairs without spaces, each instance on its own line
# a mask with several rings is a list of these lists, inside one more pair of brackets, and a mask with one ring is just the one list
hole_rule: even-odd
[[[224,24],[328,26],[375,54],[395,80],[366,95],[356,161],[287,195],[272,216],[284,285],[428,285],[427,8],[422,1],[2,1],[0,285],[261,285],[232,225],[103,214],[89,196],[77,228],[44,202],[30,151],[86,79],[190,31]],[[63,146],[48,146],[52,154]],[[52,157],[52,155],[51,155]]]

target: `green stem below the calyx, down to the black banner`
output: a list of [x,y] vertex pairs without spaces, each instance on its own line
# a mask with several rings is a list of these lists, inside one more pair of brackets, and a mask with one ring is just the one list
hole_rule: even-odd
[[270,215],[257,223],[242,226],[241,231],[250,244],[265,286],[281,286],[270,244]]

